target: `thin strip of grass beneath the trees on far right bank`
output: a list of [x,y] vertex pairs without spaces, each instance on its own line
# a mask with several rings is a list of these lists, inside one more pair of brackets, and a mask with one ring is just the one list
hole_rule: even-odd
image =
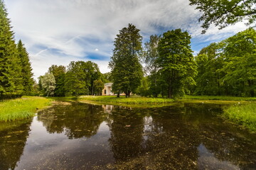
[[235,96],[185,96],[185,99],[217,100],[217,101],[256,101],[256,97],[235,97]]

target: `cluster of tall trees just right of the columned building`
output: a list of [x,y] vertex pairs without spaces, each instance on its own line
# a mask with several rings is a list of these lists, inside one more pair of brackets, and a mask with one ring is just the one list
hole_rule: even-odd
[[[112,91],[142,96],[183,96],[189,85],[196,84],[196,62],[190,47],[191,36],[181,29],[169,30],[161,37],[151,35],[142,48],[142,36],[132,24],[119,31],[114,40],[110,68]],[[142,64],[146,62],[148,77],[143,77]],[[141,86],[142,84],[142,86]],[[138,91],[139,89],[139,91]]]

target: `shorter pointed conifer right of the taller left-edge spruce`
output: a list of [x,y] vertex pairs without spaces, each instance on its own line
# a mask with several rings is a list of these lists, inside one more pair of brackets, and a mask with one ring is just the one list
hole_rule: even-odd
[[29,94],[33,90],[33,73],[31,63],[29,62],[28,52],[26,51],[26,48],[21,40],[18,41],[17,49],[18,57],[21,61],[23,94]]

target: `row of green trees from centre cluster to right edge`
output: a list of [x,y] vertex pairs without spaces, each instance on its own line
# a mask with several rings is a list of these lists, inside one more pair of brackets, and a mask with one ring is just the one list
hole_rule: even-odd
[[[139,94],[255,96],[256,31],[244,30],[191,56],[189,35],[171,30],[145,43],[146,72]],[[170,94],[171,93],[171,94]]]

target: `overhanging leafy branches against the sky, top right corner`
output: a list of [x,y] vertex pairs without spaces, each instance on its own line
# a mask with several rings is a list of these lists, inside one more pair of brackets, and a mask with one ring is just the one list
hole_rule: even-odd
[[239,21],[247,20],[247,24],[255,22],[255,0],[189,0],[190,5],[196,5],[196,9],[203,12],[199,21],[204,21],[202,33],[206,33],[211,23],[220,29],[233,25]]

